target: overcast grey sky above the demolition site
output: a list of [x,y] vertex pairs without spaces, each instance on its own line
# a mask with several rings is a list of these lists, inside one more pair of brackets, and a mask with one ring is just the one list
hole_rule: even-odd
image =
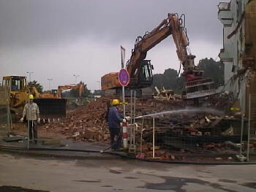
[[[227,1],[227,0],[222,0]],[[31,74],[45,90],[82,80],[91,90],[108,72],[121,68],[135,39],[167,18],[186,15],[190,49],[201,58],[217,58],[222,48],[219,0],[1,0],[0,77]],[[178,69],[173,39],[148,51],[154,74]]]

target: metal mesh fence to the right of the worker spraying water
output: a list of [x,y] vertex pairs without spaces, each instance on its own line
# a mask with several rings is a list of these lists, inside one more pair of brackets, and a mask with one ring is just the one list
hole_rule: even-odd
[[[127,110],[130,109],[127,114],[132,118],[127,132],[129,152],[135,152],[138,158],[249,161],[249,155],[256,152],[256,96],[250,96],[250,117],[244,121],[239,115],[217,115],[217,110],[208,107],[152,111],[152,114],[138,116],[137,109],[148,106],[135,101],[131,99],[131,106],[127,106]],[[244,123],[242,134],[241,122]],[[239,158],[239,150],[244,158]]]

